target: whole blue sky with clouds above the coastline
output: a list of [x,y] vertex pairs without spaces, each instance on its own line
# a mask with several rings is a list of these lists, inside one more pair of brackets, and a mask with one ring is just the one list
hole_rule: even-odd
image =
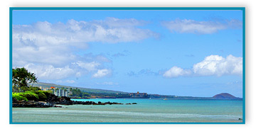
[[242,98],[242,11],[13,11],[12,67],[40,82]]

